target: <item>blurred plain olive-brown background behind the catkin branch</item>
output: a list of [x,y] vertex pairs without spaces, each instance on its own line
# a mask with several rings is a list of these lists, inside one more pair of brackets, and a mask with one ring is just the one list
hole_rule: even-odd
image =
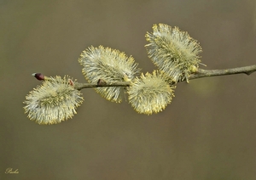
[[157,115],[84,89],[72,120],[27,119],[22,102],[41,83],[31,74],[85,82],[78,59],[91,45],[154,70],[144,36],[157,23],[201,42],[202,68],[256,62],[255,0],[1,0],[0,179],[256,179],[256,73],[178,83]]

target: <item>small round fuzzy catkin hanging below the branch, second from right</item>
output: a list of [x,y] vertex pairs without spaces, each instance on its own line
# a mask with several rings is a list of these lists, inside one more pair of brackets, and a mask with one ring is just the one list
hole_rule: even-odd
[[152,74],[142,74],[131,82],[127,92],[129,103],[140,114],[156,114],[172,102],[174,88],[168,77],[154,70]]

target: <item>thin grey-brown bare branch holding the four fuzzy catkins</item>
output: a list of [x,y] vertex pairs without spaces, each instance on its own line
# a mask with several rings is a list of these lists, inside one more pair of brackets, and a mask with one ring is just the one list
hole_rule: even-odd
[[[235,75],[235,74],[246,74],[250,75],[256,71],[256,65],[249,65],[244,67],[224,69],[224,70],[202,70],[199,69],[198,72],[189,76],[189,80],[198,79],[201,77],[211,77],[211,76],[226,76],[226,75]],[[183,80],[185,81],[185,80]],[[182,81],[182,82],[183,82]],[[92,83],[76,83],[75,88],[78,90],[91,87],[129,87],[130,82],[116,82],[113,84],[92,84]]]

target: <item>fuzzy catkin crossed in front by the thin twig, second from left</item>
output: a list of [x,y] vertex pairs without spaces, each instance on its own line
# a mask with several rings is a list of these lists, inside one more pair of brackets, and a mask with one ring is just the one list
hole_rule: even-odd
[[[125,53],[112,48],[90,47],[85,49],[79,58],[83,66],[85,79],[90,83],[102,80],[108,84],[115,82],[130,82],[138,73],[137,63]],[[124,87],[98,87],[95,88],[103,98],[120,103],[125,96]]]

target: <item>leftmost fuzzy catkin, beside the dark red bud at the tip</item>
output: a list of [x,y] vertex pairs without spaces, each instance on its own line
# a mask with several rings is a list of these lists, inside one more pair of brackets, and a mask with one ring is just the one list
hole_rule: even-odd
[[84,98],[69,76],[49,77],[26,95],[25,113],[38,124],[56,124],[73,117]]

